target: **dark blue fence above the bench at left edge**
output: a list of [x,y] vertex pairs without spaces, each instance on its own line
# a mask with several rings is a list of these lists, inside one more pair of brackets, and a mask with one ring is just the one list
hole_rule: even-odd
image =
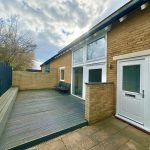
[[0,63],[0,96],[12,86],[12,67]]

